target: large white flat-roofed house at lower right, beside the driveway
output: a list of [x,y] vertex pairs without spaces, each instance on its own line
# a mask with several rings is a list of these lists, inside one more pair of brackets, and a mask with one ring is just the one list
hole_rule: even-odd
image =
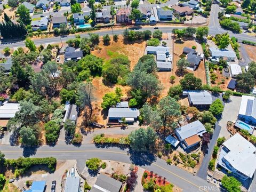
[[256,148],[239,133],[223,142],[218,165],[245,181],[256,170]]

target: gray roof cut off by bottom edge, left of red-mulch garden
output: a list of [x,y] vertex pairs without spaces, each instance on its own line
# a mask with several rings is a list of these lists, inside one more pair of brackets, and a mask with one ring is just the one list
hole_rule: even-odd
[[102,192],[102,191],[111,191],[119,192],[122,187],[122,182],[117,181],[111,177],[108,177],[105,174],[100,174],[97,178],[97,181],[92,186],[90,192]]

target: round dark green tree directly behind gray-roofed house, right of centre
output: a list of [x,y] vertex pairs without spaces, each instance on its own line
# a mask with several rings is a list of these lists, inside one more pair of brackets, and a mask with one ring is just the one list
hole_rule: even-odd
[[194,74],[188,73],[180,80],[183,90],[199,90],[202,86],[202,80],[195,77]]

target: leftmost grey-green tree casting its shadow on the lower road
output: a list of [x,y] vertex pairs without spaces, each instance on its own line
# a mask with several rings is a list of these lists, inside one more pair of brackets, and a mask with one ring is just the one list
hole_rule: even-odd
[[20,129],[21,143],[26,146],[33,146],[37,142],[34,130],[29,126]]

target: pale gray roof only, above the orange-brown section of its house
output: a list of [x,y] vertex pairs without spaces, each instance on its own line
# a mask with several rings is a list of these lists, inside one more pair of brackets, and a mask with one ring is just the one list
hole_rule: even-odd
[[175,129],[175,133],[178,134],[182,140],[185,140],[193,135],[202,136],[205,132],[206,130],[204,125],[198,120]]

